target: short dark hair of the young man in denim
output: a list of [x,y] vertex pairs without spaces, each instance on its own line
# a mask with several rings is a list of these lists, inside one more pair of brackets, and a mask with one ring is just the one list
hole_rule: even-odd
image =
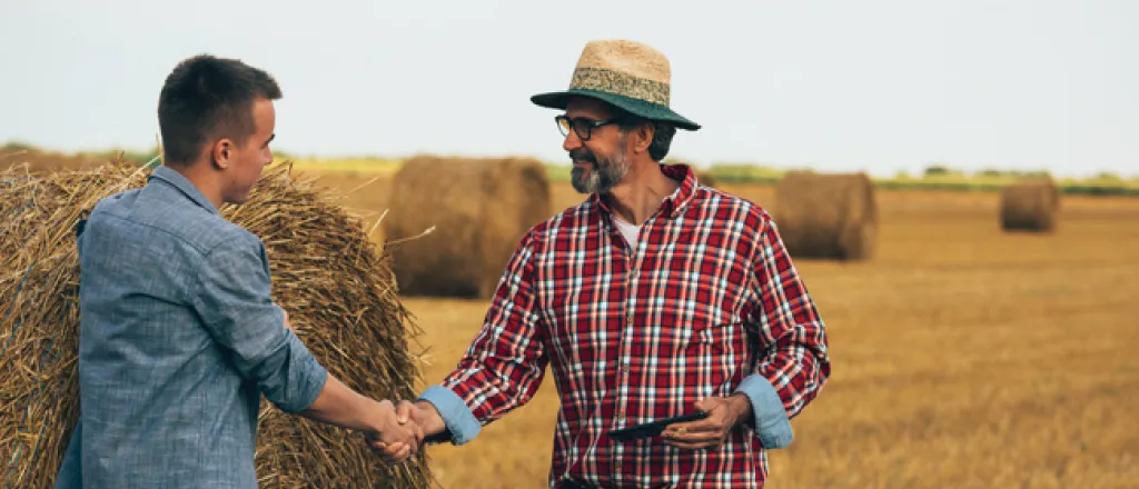
[[253,102],[281,98],[277,81],[237,59],[198,55],[178,64],[158,96],[158,127],[166,163],[192,163],[202,144],[256,132]]

